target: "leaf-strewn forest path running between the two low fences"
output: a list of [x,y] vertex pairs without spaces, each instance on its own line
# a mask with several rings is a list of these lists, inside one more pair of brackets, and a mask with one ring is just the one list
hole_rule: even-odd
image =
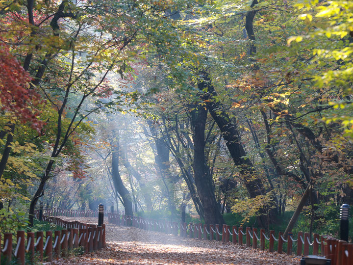
[[[61,217],[73,221],[73,217]],[[75,217],[74,217],[75,218]],[[76,217],[77,220],[77,217]],[[97,223],[98,218],[79,218]],[[245,246],[217,241],[180,238],[135,227],[106,224],[106,248],[53,264],[299,264],[299,259],[286,254],[268,253]]]

